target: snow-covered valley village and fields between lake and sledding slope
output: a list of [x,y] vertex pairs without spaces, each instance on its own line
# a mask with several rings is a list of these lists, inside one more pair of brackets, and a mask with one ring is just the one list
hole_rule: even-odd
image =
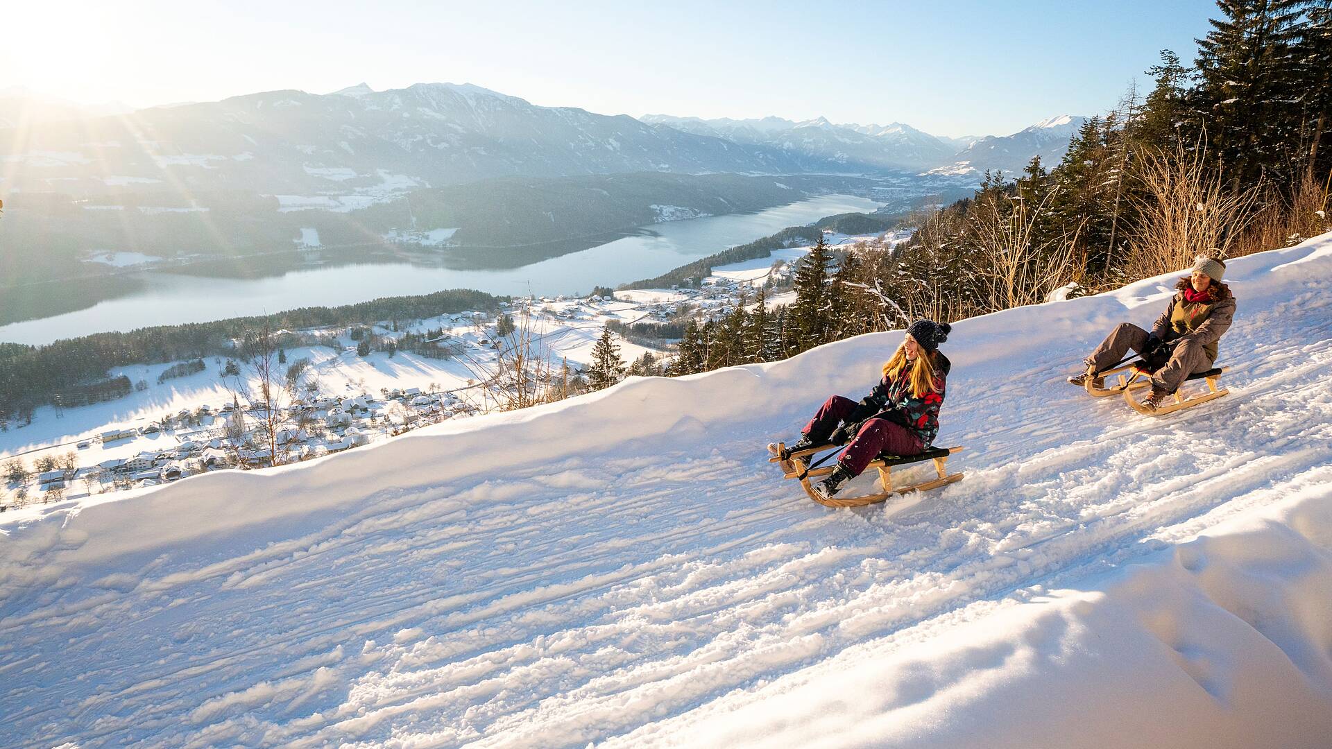
[[[846,251],[866,241],[894,247],[908,236],[908,231],[859,237],[829,232],[825,239]],[[318,344],[274,352],[274,371],[286,373],[289,363],[302,364],[300,382],[289,382],[289,397],[272,418],[266,402],[250,400],[262,392],[250,384],[257,380],[252,365],[213,357],[117,368],[112,378],[140,384],[127,396],[41,408],[31,421],[0,432],[0,468],[8,481],[0,510],[155,486],[209,470],[309,460],[498,410],[514,394],[507,372],[519,348],[539,357],[534,377],[586,380],[607,323],[709,320],[751,305],[759,291],[775,289],[769,304],[779,307],[793,297],[794,264],[807,252],[793,247],[717,267],[698,288],[518,299],[502,303],[498,315],[461,312],[401,325],[274,331],[274,341]],[[398,349],[396,343],[413,333],[426,335],[437,353]],[[390,351],[360,347],[369,337]],[[634,363],[641,369],[646,361],[658,372],[673,357],[670,349],[610,337],[623,369]]]

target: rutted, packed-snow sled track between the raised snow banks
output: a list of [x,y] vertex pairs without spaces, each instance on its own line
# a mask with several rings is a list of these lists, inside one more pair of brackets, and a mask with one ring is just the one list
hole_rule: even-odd
[[719,696],[851,648],[910,646],[1283,486],[1332,481],[1328,291],[1311,283],[1239,320],[1223,341],[1231,394],[1168,417],[1062,384],[1074,347],[1000,373],[1034,382],[1002,408],[971,396],[992,392],[994,373],[955,372],[943,438],[967,445],[967,477],[899,512],[814,505],[767,464],[775,425],[757,421],[690,453],[623,449],[384,492],[244,554],[127,560],[93,584],[7,590],[8,737],[663,740],[661,721]]

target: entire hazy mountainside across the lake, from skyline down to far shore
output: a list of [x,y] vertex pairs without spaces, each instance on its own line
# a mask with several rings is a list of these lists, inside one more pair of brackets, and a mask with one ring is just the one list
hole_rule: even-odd
[[0,287],[111,272],[99,253],[197,263],[293,251],[312,232],[344,253],[445,231],[469,252],[549,255],[661,207],[734,213],[850,189],[902,209],[1035,153],[1054,163],[1082,121],[954,141],[902,123],[606,116],[441,83],[109,112],[0,91]]

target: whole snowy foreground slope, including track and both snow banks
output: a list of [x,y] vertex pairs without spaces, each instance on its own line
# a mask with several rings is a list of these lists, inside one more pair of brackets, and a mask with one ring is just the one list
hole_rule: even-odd
[[890,506],[762,445],[900,333],[5,513],[5,742],[1321,745],[1332,235],[1228,275],[1232,394],[1160,418],[1062,378],[1171,276],[958,324],[967,477]]

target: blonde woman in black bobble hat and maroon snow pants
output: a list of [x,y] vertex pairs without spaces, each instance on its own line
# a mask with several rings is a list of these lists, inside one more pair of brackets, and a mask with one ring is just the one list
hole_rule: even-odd
[[[827,444],[851,444],[838,457],[832,474],[814,488],[829,498],[880,453],[920,454],[939,433],[939,404],[951,364],[939,352],[951,325],[918,320],[907,328],[906,340],[883,365],[883,380],[870,394],[855,402],[832,396],[810,420],[801,440],[786,452]],[[775,445],[773,445],[775,449]]]

